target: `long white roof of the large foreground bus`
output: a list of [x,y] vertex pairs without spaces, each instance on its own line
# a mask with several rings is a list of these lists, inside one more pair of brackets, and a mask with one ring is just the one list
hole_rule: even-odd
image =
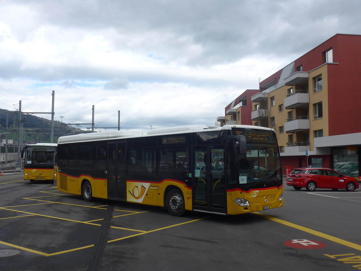
[[[260,130],[273,130],[271,128],[261,127],[261,126],[252,126],[252,125],[224,125],[219,126],[206,126],[206,125],[184,125],[184,126],[175,126],[168,128],[157,128],[150,130],[146,135],[135,135],[130,131],[117,131],[109,130],[106,132],[95,132],[95,133],[85,133],[85,134],[75,134],[72,136],[62,136],[58,139],[58,144],[61,143],[71,143],[71,142],[81,142],[81,141],[100,141],[105,139],[116,139],[124,137],[147,137],[147,136],[157,136],[159,134],[179,134],[179,133],[190,133],[190,132],[205,132],[206,130],[231,130],[232,128],[248,128],[248,129],[260,129]],[[274,130],[273,130],[274,131]]]

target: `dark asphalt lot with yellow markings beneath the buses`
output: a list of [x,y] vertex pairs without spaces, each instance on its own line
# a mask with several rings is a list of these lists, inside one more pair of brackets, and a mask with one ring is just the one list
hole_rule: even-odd
[[[53,183],[1,176],[0,270],[355,270],[338,261],[357,256],[361,264],[361,238],[341,210],[352,206],[354,213],[360,190],[284,190],[282,208],[174,217],[159,207],[85,202]],[[316,205],[327,206],[310,208]],[[335,256],[346,254],[355,256]]]

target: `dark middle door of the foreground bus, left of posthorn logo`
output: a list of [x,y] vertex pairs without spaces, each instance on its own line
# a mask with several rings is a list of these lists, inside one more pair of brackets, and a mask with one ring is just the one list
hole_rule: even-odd
[[126,199],[125,159],[126,142],[108,143],[106,175],[109,199]]

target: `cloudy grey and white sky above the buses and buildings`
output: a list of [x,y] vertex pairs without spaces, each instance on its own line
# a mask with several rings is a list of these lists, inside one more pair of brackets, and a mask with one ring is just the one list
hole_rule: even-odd
[[[147,132],[224,108],[336,33],[360,0],[0,0],[0,108]],[[50,119],[50,115],[36,114]],[[82,125],[85,128],[90,125]],[[97,129],[102,130],[102,129]]]

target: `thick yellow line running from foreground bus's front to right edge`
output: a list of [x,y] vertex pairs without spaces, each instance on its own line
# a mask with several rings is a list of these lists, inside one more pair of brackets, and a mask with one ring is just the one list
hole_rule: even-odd
[[265,215],[265,214],[262,214],[260,212],[254,212],[253,214],[262,216],[263,218],[278,222],[278,223],[286,225],[288,227],[298,229],[300,231],[311,233],[313,235],[316,235],[316,236],[321,237],[321,238],[325,238],[325,239],[330,240],[332,242],[335,242],[335,243],[338,243],[338,244],[341,244],[341,245],[344,245],[344,246],[348,246],[349,248],[361,250],[361,245],[351,243],[349,241],[346,241],[346,240],[343,240],[343,239],[328,235],[326,233],[314,231],[313,229],[309,229],[309,228],[306,228],[306,227],[303,227],[303,226],[300,226],[300,225],[297,225],[297,224],[293,224],[291,222],[288,222],[288,221],[285,221],[285,220],[282,220],[282,219],[274,218],[273,216]]

